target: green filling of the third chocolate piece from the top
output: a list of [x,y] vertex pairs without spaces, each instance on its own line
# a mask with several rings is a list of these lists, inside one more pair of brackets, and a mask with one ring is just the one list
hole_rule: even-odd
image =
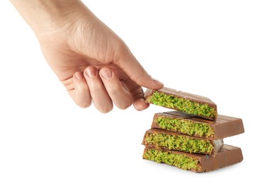
[[180,134],[148,133],[144,142],[154,144],[157,148],[200,154],[211,154],[214,148],[208,139],[193,139]]

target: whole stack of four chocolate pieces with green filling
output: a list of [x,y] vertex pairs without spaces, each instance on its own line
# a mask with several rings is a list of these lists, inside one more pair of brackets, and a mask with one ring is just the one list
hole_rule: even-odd
[[147,89],[145,99],[173,111],[154,115],[144,134],[143,159],[198,173],[243,160],[239,147],[223,144],[224,138],[244,133],[243,121],[218,115],[209,98],[162,88]]

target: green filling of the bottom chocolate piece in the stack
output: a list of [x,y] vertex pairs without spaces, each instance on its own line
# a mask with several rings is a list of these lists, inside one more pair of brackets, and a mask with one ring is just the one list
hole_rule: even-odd
[[198,159],[183,154],[172,153],[171,151],[147,149],[144,151],[143,159],[156,161],[157,163],[166,163],[184,170],[200,171],[201,168]]

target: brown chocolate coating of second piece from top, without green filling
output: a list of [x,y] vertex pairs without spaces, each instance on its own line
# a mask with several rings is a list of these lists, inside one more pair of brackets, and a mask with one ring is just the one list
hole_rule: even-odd
[[[226,115],[218,115],[217,120],[205,120],[200,118],[196,115],[188,115],[186,113],[178,112],[178,111],[171,111],[166,113],[156,113],[153,118],[152,128],[159,128],[159,125],[156,123],[158,117],[169,117],[171,119],[184,119],[190,120],[196,123],[207,123],[209,124],[212,129],[214,130],[215,134],[213,137],[208,137],[209,139],[223,139],[226,137],[231,137],[237,134],[244,133],[244,124],[241,118],[237,117],[229,117]],[[172,132],[176,132],[176,130],[169,130]],[[181,133],[181,132],[178,132]],[[200,137],[198,134],[194,134],[195,137]],[[207,138],[205,136],[205,138]]]

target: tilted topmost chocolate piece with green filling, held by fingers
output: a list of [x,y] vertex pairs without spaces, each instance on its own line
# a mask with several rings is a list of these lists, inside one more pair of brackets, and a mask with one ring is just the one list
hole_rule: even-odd
[[210,120],[216,120],[217,118],[217,105],[204,96],[166,87],[159,90],[147,89],[144,96],[147,103],[171,108],[190,115],[198,115]]

